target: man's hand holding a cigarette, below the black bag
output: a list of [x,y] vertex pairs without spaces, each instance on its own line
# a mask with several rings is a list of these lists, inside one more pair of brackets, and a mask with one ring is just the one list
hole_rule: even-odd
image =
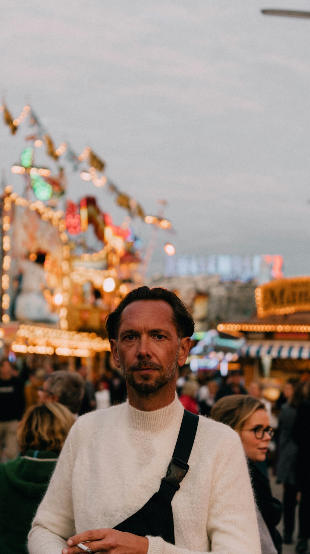
[[63,548],[62,554],[79,554],[84,552],[79,546],[82,542],[94,552],[110,554],[147,554],[148,539],[132,533],[124,533],[116,529],[94,529],[84,531],[68,538],[68,548]]

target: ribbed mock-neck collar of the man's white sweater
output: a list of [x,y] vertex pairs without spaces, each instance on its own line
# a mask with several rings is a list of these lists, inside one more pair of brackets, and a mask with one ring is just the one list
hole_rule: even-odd
[[180,424],[184,408],[177,394],[175,394],[174,401],[171,404],[152,412],[143,412],[133,408],[127,400],[124,404],[124,412],[125,418],[123,423],[127,429],[137,434],[147,433],[148,435],[157,435],[161,433],[166,434],[177,422]]

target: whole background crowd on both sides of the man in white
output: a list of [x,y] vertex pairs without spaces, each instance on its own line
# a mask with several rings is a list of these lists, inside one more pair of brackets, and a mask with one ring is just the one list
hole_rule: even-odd
[[[264,398],[261,382],[253,381],[245,388],[240,371],[229,372],[223,379],[216,372],[193,375],[184,366],[176,386],[186,410],[224,423],[239,434],[256,500],[262,553],[281,554],[282,539],[292,543],[298,502],[296,552],[306,552],[310,538],[310,380],[288,379],[273,406]],[[31,522],[76,419],[121,404],[126,396],[125,378],[115,369],[107,368],[92,383],[84,366],[76,372],[50,364],[18,372],[8,359],[1,361],[0,536],[5,537],[5,554],[28,552]],[[272,459],[277,481],[283,484],[282,504],[272,496],[266,457]],[[276,528],[282,514],[283,537]]]

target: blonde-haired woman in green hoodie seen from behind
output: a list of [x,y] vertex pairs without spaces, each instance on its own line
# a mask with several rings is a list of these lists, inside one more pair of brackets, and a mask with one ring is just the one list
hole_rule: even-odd
[[28,408],[19,423],[20,455],[0,464],[0,541],[2,554],[27,554],[27,536],[74,415],[62,404]]

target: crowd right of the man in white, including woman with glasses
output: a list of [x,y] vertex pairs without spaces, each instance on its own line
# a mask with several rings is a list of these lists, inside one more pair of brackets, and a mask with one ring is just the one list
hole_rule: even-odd
[[[274,406],[264,398],[262,382],[252,381],[247,389],[244,387],[240,371],[232,373],[222,384],[220,377],[214,379],[214,377],[208,376],[208,372],[203,372],[200,384],[198,384],[196,380],[192,381],[190,372],[185,368],[183,375],[177,381],[180,402],[185,409],[226,423],[240,434],[249,460],[259,512],[264,514],[264,520],[277,552],[281,552],[282,540],[278,535],[276,525],[280,522],[283,512],[283,542],[291,544],[298,503],[296,552],[306,552],[310,538],[310,474],[308,469],[310,379],[308,372],[304,373],[302,377],[300,381],[296,378],[287,380]],[[246,406],[249,408],[248,411],[246,411]],[[251,408],[253,408],[252,411]],[[254,456],[251,455],[245,440],[247,437],[242,434],[242,430],[247,430],[246,428],[253,432],[255,432],[255,428],[258,429],[259,422],[258,420],[252,421],[252,413],[255,413],[255,418],[259,415],[263,416],[267,430],[261,437],[263,444],[260,447],[257,446],[261,453],[259,457],[256,456],[256,453]],[[239,426],[240,420],[241,427]],[[260,427],[262,428],[263,425],[262,422]],[[259,434],[260,432],[256,437],[257,441],[260,440]],[[282,505],[271,494],[268,484],[267,455],[268,465],[272,466],[277,483],[283,485]],[[263,503],[265,503],[266,509],[262,503],[262,491],[265,491],[266,498]]]

